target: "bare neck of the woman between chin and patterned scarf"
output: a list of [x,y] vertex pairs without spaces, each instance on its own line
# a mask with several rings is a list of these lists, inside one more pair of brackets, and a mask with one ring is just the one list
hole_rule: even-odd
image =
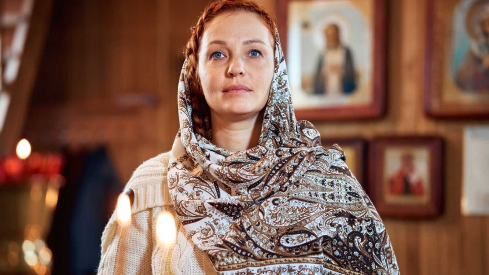
[[216,146],[231,152],[244,151],[258,144],[263,123],[262,110],[250,117],[231,117],[211,112],[212,138]]

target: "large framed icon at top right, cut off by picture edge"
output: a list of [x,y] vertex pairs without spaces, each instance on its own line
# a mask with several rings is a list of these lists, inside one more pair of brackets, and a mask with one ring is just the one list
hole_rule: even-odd
[[489,116],[489,1],[428,1],[425,110]]

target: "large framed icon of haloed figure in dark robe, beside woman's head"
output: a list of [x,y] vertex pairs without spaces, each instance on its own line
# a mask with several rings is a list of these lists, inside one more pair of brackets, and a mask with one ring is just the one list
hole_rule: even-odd
[[286,42],[282,45],[296,116],[323,120],[382,115],[385,1],[279,1],[279,16],[288,19],[279,30]]

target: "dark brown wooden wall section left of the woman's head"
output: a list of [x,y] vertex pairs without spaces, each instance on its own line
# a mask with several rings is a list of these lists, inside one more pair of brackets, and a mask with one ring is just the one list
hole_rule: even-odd
[[[24,136],[34,149],[106,142],[121,179],[171,149],[188,29],[205,2],[56,0]],[[121,96],[153,103],[121,106]]]

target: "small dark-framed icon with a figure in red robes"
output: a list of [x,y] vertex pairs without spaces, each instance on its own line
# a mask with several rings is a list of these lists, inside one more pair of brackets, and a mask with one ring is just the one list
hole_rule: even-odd
[[434,217],[443,209],[443,140],[374,138],[369,145],[367,193],[391,217]]

